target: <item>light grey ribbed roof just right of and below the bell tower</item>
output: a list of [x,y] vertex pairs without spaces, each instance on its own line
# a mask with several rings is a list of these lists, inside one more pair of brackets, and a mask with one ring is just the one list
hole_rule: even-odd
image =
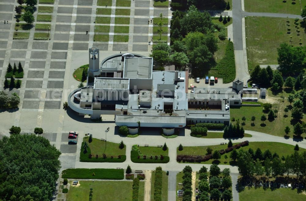
[[129,79],[95,78],[95,89],[129,89]]

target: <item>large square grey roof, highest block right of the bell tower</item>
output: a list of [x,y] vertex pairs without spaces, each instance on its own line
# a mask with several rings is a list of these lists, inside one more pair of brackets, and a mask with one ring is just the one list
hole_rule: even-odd
[[152,58],[125,57],[124,78],[152,78]]

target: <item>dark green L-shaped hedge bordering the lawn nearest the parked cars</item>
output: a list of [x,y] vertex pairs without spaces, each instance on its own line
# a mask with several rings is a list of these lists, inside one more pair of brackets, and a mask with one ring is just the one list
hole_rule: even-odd
[[[84,143],[82,142],[80,151],[80,162],[107,162],[107,163],[122,163],[126,160],[126,155],[109,156],[109,157],[96,157],[91,154],[89,146],[87,147],[87,152],[84,153]],[[112,158],[113,157],[113,158]]]

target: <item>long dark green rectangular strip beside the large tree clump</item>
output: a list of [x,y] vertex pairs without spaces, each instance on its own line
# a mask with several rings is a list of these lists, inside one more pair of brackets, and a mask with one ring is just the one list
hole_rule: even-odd
[[[95,173],[95,176],[92,175]],[[123,169],[65,169],[62,178],[67,179],[111,179],[121,180],[124,178]]]

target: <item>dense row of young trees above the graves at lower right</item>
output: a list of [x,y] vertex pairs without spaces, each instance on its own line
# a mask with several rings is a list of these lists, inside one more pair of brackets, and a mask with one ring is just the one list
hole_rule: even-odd
[[[248,151],[239,150],[237,155],[230,155],[233,161],[237,160],[238,171],[241,176],[252,177],[254,175],[267,177],[283,176],[284,174],[294,174],[297,178],[303,179],[306,176],[306,152],[282,156],[271,154],[265,151],[263,154],[260,149],[254,153],[251,149]],[[255,161],[256,159],[256,161]]]

